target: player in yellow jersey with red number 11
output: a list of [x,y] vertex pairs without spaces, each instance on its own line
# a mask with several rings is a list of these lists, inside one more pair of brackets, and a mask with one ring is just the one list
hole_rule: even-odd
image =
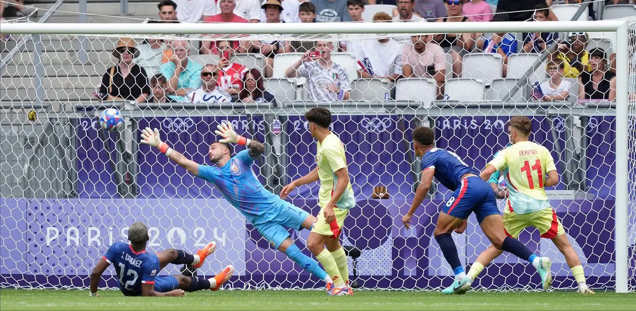
[[[593,294],[585,282],[581,260],[567,240],[563,226],[556,218],[555,210],[550,206],[546,195],[545,187],[556,185],[559,180],[555,161],[546,147],[529,141],[531,131],[530,119],[513,117],[508,125],[510,142],[513,145],[495,155],[480,176],[483,180],[488,180],[496,171],[503,171],[509,194],[503,216],[506,234],[516,239],[527,227],[539,229],[541,237],[551,239],[565,256],[579,285],[579,293]],[[463,228],[460,229],[462,230]],[[468,272],[470,281],[473,282],[483,268],[501,253],[501,250],[492,245],[483,251]],[[548,280],[548,284],[543,284],[544,289],[550,286],[551,277]]]

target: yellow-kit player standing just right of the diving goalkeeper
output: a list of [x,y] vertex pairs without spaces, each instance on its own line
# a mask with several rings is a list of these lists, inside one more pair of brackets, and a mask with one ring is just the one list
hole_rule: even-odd
[[307,239],[307,248],[314,253],[333,280],[331,291],[328,285],[328,293],[351,295],[353,291],[349,286],[347,256],[338,241],[349,209],[356,204],[347,172],[345,147],[338,136],[329,131],[329,110],[314,108],[305,114],[305,119],[309,122],[307,127],[310,133],[318,141],[316,167],[307,175],[286,185],[280,191],[280,197],[285,199],[294,188],[320,180],[318,204],[321,211]]

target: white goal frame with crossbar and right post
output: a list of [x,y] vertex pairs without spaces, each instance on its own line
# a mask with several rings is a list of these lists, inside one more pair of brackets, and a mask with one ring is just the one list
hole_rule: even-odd
[[[0,34],[438,34],[458,32],[614,32],[616,68],[628,68],[628,21],[488,23],[3,23]],[[616,72],[616,292],[628,292],[628,70]],[[55,113],[53,113],[55,114]],[[621,130],[622,129],[622,130]]]

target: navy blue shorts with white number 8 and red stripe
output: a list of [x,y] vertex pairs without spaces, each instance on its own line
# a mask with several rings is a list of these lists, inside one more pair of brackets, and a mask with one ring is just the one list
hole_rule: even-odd
[[441,211],[460,219],[466,219],[474,212],[480,223],[487,216],[501,215],[495,192],[479,176],[462,179],[460,187],[453,192]]

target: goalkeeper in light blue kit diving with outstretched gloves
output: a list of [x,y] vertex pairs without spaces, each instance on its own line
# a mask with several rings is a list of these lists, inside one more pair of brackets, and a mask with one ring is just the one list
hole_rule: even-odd
[[[215,132],[223,139],[209,146],[208,157],[214,164],[212,166],[186,159],[183,154],[168,147],[167,143],[160,139],[158,129],[143,129],[141,143],[158,148],[192,175],[214,184],[223,193],[223,197],[238,209],[274,248],[285,253],[303,269],[324,280],[328,289],[333,288],[331,277],[322,270],[317,261],[300,251],[287,232],[287,228],[311,229],[315,217],[266,190],[252,171],[254,159],[263,154],[265,145],[237,135],[229,122],[221,123]],[[232,157],[230,143],[244,145],[247,150]],[[328,290],[328,293],[332,292]]]

